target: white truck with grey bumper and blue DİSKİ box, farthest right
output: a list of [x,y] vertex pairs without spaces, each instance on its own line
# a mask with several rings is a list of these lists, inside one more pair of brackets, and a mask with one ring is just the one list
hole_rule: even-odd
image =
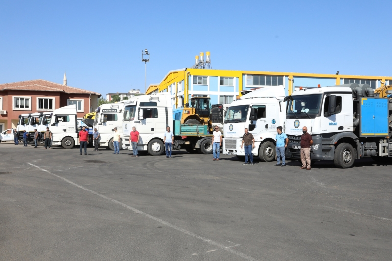
[[392,158],[392,100],[380,98],[368,84],[302,89],[285,100],[286,158],[300,159],[304,126],[313,139],[311,160],[349,168],[366,156],[380,162]]

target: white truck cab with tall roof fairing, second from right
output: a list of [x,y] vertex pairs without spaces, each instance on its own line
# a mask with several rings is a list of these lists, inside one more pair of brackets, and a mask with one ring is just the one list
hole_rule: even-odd
[[283,86],[273,86],[260,88],[233,101],[224,119],[223,154],[236,155],[241,160],[245,158],[241,142],[244,130],[248,128],[255,139],[252,154],[259,156],[261,161],[275,160],[276,128],[284,128],[284,97]]

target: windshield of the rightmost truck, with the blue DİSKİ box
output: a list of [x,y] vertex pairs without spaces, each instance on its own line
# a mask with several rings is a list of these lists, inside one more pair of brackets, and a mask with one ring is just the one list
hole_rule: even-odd
[[287,114],[319,114],[321,94],[291,96]]

